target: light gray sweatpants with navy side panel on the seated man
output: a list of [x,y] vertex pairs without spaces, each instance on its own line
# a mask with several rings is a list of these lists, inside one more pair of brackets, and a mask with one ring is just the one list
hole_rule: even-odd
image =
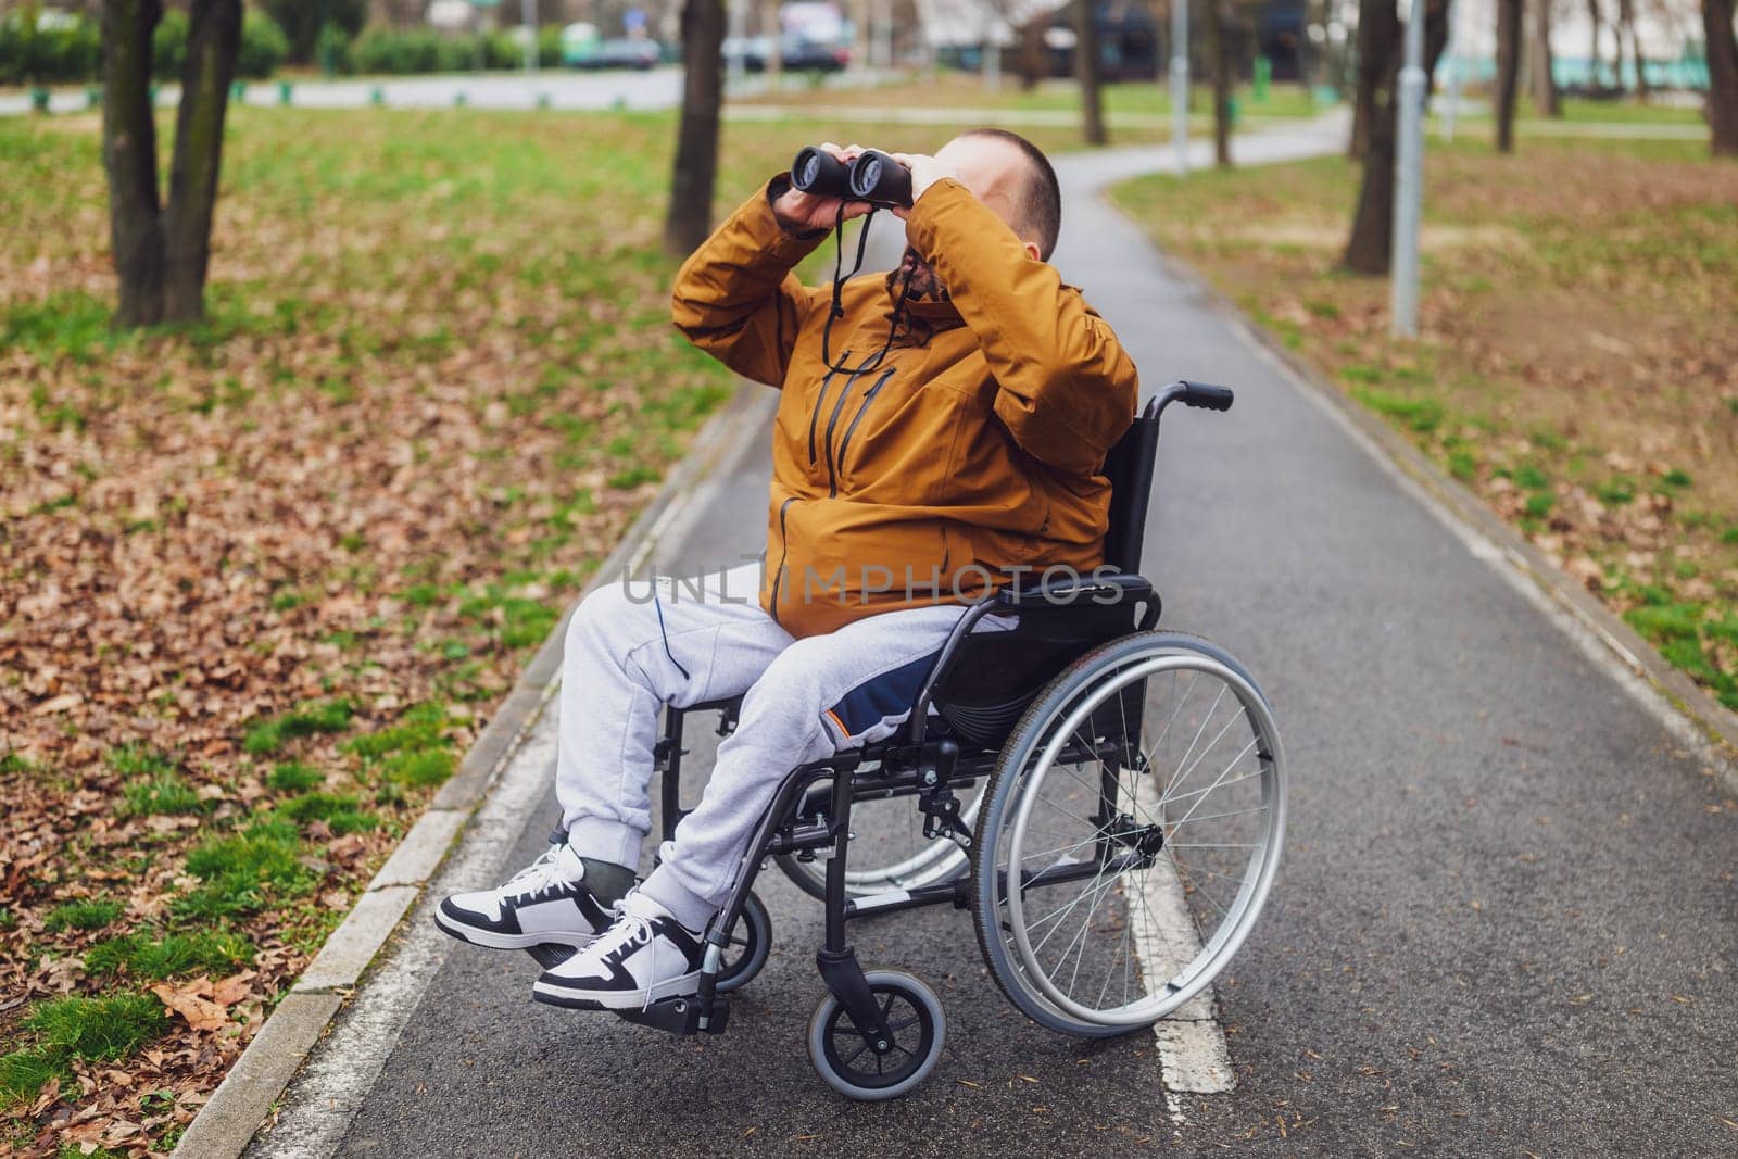
[[652,745],[666,704],[747,693],[699,806],[659,850],[645,893],[699,930],[723,905],[787,772],[892,735],[963,613],[916,606],[793,639],[756,598],[760,565],[580,601],[561,660],[556,798],[568,844],[633,867],[652,827]]

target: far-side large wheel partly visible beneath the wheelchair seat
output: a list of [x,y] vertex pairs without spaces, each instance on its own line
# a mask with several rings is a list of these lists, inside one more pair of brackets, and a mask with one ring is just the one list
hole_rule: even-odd
[[[968,789],[959,810],[966,825],[977,822],[982,789]],[[805,862],[794,853],[777,858],[784,876],[817,900],[827,897],[827,864]],[[852,858],[845,871],[845,895],[872,897],[892,890],[916,890],[966,876],[972,865],[956,843],[923,836],[923,813],[912,796],[859,799],[852,803]]]

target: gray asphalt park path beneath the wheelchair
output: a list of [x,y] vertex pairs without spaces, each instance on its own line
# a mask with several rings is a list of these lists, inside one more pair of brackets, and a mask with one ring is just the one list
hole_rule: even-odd
[[[1151,1036],[1027,1023],[968,917],[921,911],[855,938],[939,989],[949,1048],[909,1098],[848,1105],[801,1048],[819,911],[768,874],[779,947],[721,1039],[532,1004],[527,957],[412,931],[255,1154],[1738,1152],[1738,817],[1662,718],[1091,198],[1164,163],[1065,160],[1058,261],[1147,389],[1239,391],[1170,422],[1147,540],[1168,622],[1250,664],[1291,758],[1286,864],[1220,985],[1237,1088],[1185,1096],[1178,1123]],[[683,561],[760,537],[765,476],[746,455]],[[506,860],[551,818],[544,798]],[[494,872],[469,853],[448,884]]]

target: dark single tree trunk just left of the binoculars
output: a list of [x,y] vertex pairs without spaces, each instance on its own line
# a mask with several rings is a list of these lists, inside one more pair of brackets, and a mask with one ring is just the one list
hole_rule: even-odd
[[681,122],[676,129],[676,169],[671,176],[664,247],[692,254],[713,231],[713,186],[718,181],[718,116],[725,99],[723,0],[681,5]]

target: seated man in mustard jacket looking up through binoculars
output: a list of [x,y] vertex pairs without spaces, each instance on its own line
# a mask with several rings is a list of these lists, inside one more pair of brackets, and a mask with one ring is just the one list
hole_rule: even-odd
[[[676,278],[676,327],[784,391],[766,554],[693,586],[601,587],[575,610],[561,831],[506,884],[436,914],[474,945],[574,947],[534,985],[539,1001],[641,1010],[692,994],[707,923],[780,778],[899,728],[966,601],[1102,560],[1104,459],[1135,417],[1137,379],[1048,264],[1050,162],[996,129],[893,160],[909,170],[909,205],[893,205],[909,248],[885,278],[831,292],[798,280],[829,229],[871,203],[805,193],[787,174]],[[636,886],[660,709],[739,695],[699,806]]]

